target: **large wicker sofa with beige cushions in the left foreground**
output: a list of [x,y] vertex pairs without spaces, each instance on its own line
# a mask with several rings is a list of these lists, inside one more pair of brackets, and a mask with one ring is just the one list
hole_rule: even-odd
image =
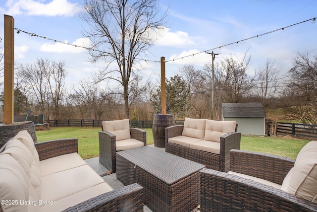
[[0,211],[143,211],[143,188],[113,190],[77,153],[77,139],[34,143],[20,131],[0,149]]

